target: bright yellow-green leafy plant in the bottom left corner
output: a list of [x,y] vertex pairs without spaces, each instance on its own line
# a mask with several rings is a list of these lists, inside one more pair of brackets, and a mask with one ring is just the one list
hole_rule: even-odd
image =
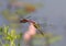
[[0,27],[0,35],[2,36],[3,41],[8,41],[10,44],[2,44],[2,46],[15,46],[15,39],[22,38],[22,33],[16,34],[15,30],[11,30],[9,32],[9,26]]

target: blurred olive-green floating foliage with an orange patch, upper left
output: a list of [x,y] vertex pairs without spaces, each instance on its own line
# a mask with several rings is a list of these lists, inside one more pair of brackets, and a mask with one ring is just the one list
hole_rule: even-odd
[[[43,4],[40,2],[31,4],[28,2],[19,2],[18,0],[8,0],[7,9],[2,10],[1,14],[10,22],[9,23],[10,26],[16,28],[20,26],[19,21],[21,18],[24,18],[28,14],[35,12],[37,8],[42,8],[42,7]],[[12,10],[12,8],[14,9]]]

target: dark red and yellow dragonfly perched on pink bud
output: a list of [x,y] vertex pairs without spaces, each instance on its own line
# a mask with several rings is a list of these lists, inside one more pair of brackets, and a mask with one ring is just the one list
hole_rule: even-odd
[[35,21],[26,20],[26,19],[20,20],[20,23],[26,23],[26,22],[32,23],[33,26],[44,36],[44,33],[41,31],[40,24],[37,24]]

